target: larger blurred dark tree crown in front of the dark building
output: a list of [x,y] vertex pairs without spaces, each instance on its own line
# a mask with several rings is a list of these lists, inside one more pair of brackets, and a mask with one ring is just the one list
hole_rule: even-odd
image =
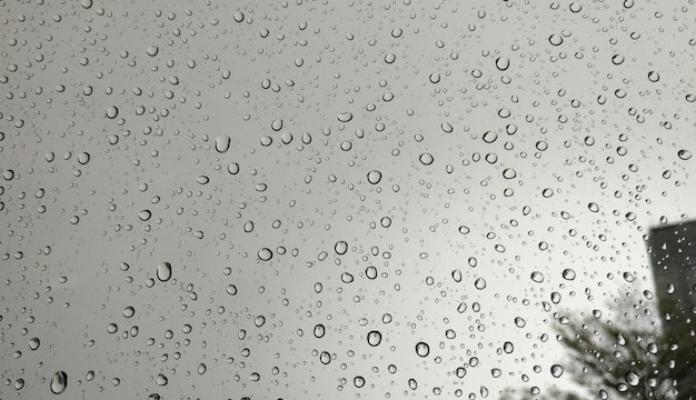
[[692,364],[675,359],[694,358],[693,320],[682,313],[680,323],[663,329],[645,301],[634,299],[615,299],[609,316],[594,310],[557,319],[557,339],[568,352],[565,370],[600,399],[689,399],[692,393],[677,393],[676,382],[688,379]]

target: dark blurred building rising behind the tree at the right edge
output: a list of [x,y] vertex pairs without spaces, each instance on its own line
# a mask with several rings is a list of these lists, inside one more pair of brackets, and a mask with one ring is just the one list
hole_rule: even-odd
[[[696,221],[650,230],[648,253],[663,329],[674,353],[677,400],[696,400]],[[676,348],[674,346],[677,346]]]

